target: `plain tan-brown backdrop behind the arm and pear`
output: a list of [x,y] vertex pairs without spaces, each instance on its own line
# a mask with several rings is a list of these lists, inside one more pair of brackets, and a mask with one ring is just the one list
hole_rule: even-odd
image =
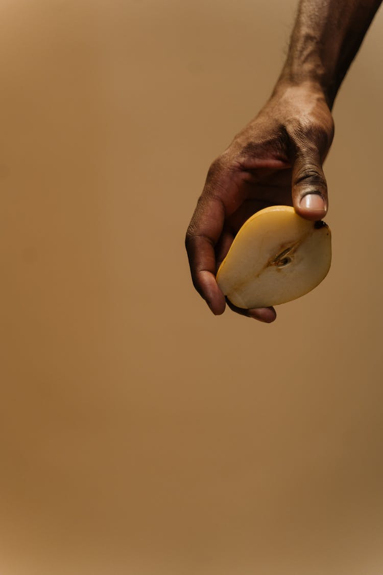
[[295,6],[2,0],[2,575],[383,572],[383,13],[335,105],[322,285],[214,317],[183,248]]

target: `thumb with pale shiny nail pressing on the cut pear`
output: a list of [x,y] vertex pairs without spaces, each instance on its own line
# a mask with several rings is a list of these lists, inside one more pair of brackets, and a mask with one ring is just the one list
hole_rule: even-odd
[[318,150],[297,153],[292,167],[292,200],[295,211],[307,220],[326,216],[327,183]]

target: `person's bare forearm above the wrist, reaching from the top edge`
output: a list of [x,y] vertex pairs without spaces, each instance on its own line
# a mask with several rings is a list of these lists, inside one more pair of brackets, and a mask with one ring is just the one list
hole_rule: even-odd
[[278,85],[314,83],[332,107],[382,0],[301,0]]

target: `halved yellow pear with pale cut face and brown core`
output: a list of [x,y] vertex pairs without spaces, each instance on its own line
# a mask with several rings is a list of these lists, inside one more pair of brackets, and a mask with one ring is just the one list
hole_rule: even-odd
[[272,206],[243,224],[216,281],[238,308],[266,308],[304,296],[327,275],[331,232],[323,221]]

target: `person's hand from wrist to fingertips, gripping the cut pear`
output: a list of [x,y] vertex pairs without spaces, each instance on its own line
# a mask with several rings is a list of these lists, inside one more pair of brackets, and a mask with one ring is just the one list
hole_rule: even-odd
[[[210,167],[186,235],[192,280],[212,313],[226,306],[215,274],[247,218],[271,205],[293,205],[300,216],[321,220],[327,212],[322,163],[334,123],[316,86],[278,86],[254,120]],[[266,323],[273,308],[231,309]]]

